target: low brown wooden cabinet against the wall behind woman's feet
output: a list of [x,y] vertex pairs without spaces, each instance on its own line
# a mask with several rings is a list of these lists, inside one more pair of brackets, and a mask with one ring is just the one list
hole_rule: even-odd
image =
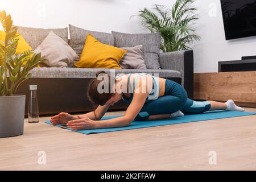
[[194,73],[195,100],[226,102],[256,107],[256,71]]

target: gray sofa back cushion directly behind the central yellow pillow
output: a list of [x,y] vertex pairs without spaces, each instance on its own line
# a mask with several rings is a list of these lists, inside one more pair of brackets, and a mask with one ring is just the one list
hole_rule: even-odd
[[84,48],[86,36],[88,34],[92,35],[98,41],[103,44],[108,44],[110,46],[114,46],[114,36],[112,34],[108,34],[105,32],[96,32],[89,31],[82,28],[78,28],[69,24],[69,33],[70,40],[69,46],[71,46],[77,53],[77,55],[81,55],[82,49]]

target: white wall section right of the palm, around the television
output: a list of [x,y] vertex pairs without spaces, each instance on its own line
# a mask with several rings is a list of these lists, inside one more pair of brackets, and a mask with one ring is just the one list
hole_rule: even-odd
[[193,45],[195,73],[218,72],[218,61],[256,55],[256,36],[225,40],[220,0],[198,0],[196,6],[200,15],[197,34],[201,41]]

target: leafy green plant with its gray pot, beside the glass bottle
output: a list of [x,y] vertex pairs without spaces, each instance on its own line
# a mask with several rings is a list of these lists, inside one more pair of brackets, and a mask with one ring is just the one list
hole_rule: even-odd
[[41,55],[25,51],[15,55],[18,45],[17,27],[11,15],[0,11],[5,40],[0,40],[0,137],[23,134],[25,95],[16,95],[18,86],[31,77],[29,71],[42,63]]

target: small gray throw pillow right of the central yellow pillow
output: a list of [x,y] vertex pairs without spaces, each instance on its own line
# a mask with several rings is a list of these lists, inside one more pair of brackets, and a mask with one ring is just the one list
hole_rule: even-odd
[[121,47],[126,50],[126,54],[119,61],[123,69],[147,69],[144,61],[143,46]]

